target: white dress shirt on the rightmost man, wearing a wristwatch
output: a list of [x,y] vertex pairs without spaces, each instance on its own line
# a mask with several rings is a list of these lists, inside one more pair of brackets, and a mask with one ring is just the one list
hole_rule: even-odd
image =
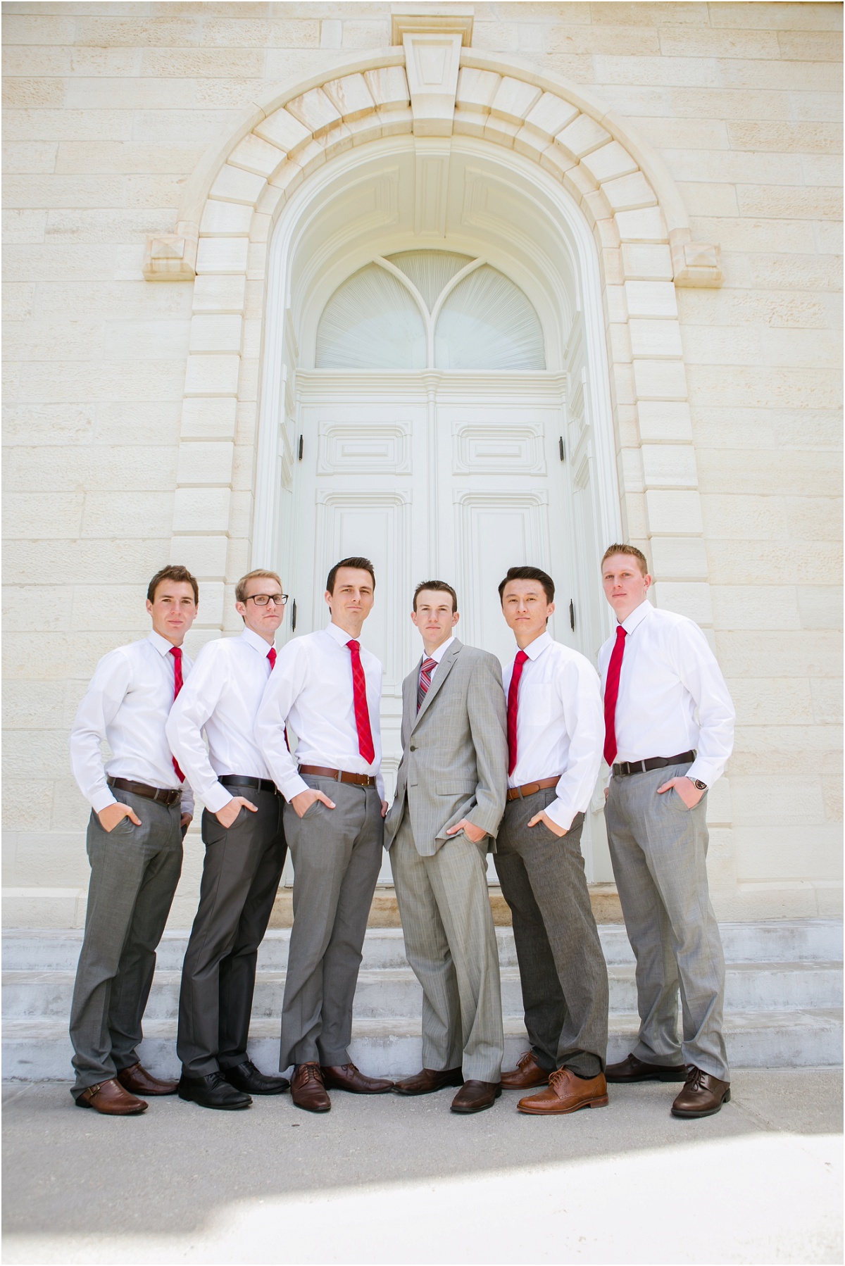
[[[697,751],[687,771],[708,787],[734,749],[736,713],[716,656],[698,624],[646,599],[622,627],[625,653],[616,704],[616,761]],[[616,633],[598,653],[602,685]]]

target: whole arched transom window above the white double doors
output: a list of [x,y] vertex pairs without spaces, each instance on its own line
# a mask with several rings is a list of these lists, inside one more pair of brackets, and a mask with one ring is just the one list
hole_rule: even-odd
[[403,251],[359,268],[326,304],[318,370],[545,370],[522,290],[483,260]]

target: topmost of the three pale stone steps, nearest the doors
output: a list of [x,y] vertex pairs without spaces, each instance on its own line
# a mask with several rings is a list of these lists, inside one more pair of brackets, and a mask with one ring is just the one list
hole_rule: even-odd
[[[633,962],[623,925],[599,924],[602,948],[608,963]],[[792,919],[720,925],[727,962],[841,962],[842,923],[839,919]],[[497,928],[499,961],[516,966],[513,931]],[[271,928],[258,950],[258,967],[284,971],[288,965],[289,928]],[[5,971],[75,971],[82,931],[9,931],[3,934]],[[158,946],[160,970],[179,971],[185,956],[187,932],[165,932]],[[400,928],[369,928],[364,942],[362,970],[402,967],[405,963]]]

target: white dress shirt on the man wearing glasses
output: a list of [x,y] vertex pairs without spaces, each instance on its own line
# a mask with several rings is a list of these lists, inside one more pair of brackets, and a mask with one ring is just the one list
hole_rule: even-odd
[[[180,768],[212,813],[233,795],[218,781],[220,774],[270,779],[253,733],[271,671],[269,653],[269,643],[252,629],[206,642],[167,719],[167,738]],[[248,790],[234,794],[250,798]]]

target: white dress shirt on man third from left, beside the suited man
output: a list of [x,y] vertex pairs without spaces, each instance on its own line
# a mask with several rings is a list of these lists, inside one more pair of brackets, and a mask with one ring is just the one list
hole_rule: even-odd
[[[279,652],[255,723],[255,737],[274,782],[285,800],[308,791],[298,765],[324,765],[347,774],[370,774],[384,800],[381,766],[381,665],[361,647],[367,711],[375,758],[359,752],[352,693],[352,641],[337,624],[294,638]],[[357,638],[355,641],[359,641]],[[288,751],[285,725],[298,737],[296,757]]]

